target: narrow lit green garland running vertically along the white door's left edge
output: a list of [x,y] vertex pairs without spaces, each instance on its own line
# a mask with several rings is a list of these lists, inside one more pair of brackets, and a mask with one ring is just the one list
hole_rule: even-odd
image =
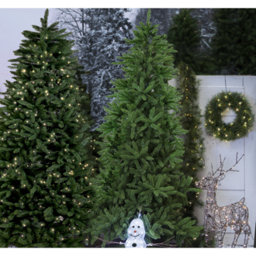
[[[188,130],[189,133],[185,135],[184,139],[184,154],[182,157],[182,173],[185,177],[190,176],[193,181],[198,181],[199,171],[205,168],[204,153],[206,147],[204,145],[205,138],[203,137],[202,130],[199,128],[202,126],[201,122],[201,109],[197,99],[199,98],[199,86],[200,80],[196,78],[195,72],[184,61],[180,61],[178,64],[178,75],[176,85],[178,91],[182,94],[180,104],[182,105],[181,112],[178,116],[181,116],[182,129]],[[195,188],[195,185],[191,185]],[[202,207],[204,202],[199,199],[199,192],[187,193],[188,204],[182,209],[182,216],[190,217],[192,221],[198,223],[198,216],[195,216],[195,206]],[[205,230],[200,230],[198,237],[190,240],[184,240],[182,247],[188,247],[192,245],[195,248],[206,247]],[[213,241],[214,247],[214,241]]]

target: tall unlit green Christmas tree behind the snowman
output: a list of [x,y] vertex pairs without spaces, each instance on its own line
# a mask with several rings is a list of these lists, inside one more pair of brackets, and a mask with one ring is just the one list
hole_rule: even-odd
[[187,131],[168,111],[179,111],[182,95],[163,81],[175,78],[171,53],[176,51],[164,40],[166,35],[156,36],[157,26],[150,26],[149,10],[147,25],[140,22],[133,30],[136,38],[126,40],[135,46],[119,57],[123,62],[112,63],[126,65],[126,78],[112,81],[116,88],[111,90],[118,91],[108,97],[116,100],[109,103],[107,121],[98,129],[104,137],[98,144],[105,170],[100,169],[101,177],[93,180],[101,185],[91,227],[85,230],[91,244],[102,233],[102,247],[106,240],[126,240],[127,228],[139,211],[147,244],[175,236],[181,247],[183,240],[195,239],[202,230],[181,213],[188,205],[186,194],[201,191],[191,189],[192,178],[178,171],[184,147],[177,136]]

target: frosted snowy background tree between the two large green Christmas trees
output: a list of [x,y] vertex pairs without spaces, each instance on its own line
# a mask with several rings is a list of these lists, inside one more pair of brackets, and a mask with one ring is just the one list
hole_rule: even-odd
[[[123,40],[134,38],[132,24],[124,17],[124,12],[130,11],[129,8],[62,9],[62,12],[74,19],[74,23],[63,23],[71,25],[75,45],[80,50],[77,55],[79,63],[85,70],[91,71],[90,75],[83,77],[83,82],[88,85],[88,93],[92,95],[91,116],[95,125],[90,131],[99,127],[103,123],[102,118],[106,116],[102,107],[112,101],[106,98],[106,95],[111,95],[110,81],[124,78],[121,70],[123,65],[116,67],[111,63],[117,61],[116,56],[127,53],[133,47],[126,45]],[[75,13],[78,13],[78,17],[74,16]],[[79,22],[82,29],[78,26]]]

